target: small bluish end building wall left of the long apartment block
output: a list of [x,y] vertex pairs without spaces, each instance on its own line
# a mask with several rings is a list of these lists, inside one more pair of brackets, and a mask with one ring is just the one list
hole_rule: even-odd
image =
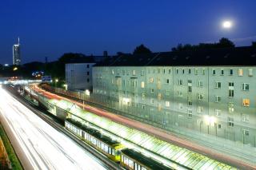
[[90,63],[66,64],[66,85],[67,89],[90,90],[92,89],[92,67]]

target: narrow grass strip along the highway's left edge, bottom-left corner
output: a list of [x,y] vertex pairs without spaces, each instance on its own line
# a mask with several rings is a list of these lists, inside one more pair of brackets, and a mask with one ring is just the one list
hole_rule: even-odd
[[6,135],[5,130],[2,128],[2,125],[0,124],[0,136],[2,138],[2,143],[5,145],[6,152],[10,159],[10,164],[13,169],[22,170],[22,164],[19,162],[18,157],[16,156],[16,153],[14,152],[14,148],[10,144],[10,140],[8,139],[8,136]]

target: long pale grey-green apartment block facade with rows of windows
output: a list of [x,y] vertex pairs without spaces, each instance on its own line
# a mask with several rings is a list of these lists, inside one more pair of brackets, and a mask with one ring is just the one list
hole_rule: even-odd
[[[255,53],[253,50],[250,57]],[[254,61],[250,66],[223,66],[211,61],[213,65],[200,65],[199,61],[192,66],[175,65],[175,55],[170,59],[176,59],[162,65],[158,60],[166,60],[161,54],[148,58],[137,65],[122,63],[133,60],[129,57],[95,65],[94,100],[143,123],[184,136],[197,135],[211,143],[230,141],[256,152]]]

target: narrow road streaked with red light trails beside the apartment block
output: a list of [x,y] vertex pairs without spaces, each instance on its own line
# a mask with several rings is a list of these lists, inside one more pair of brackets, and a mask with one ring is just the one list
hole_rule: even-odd
[[39,88],[37,85],[34,86],[34,90],[37,92],[42,93],[45,97],[51,98],[51,99],[57,99],[57,100],[66,100],[73,102],[74,104],[80,106],[81,108],[86,109],[90,113],[97,114],[100,117],[106,117],[110,119],[111,121],[117,122],[121,125],[126,125],[130,128],[136,128],[142,132],[146,132],[147,134],[150,134],[152,136],[157,136],[162,140],[165,140],[166,142],[170,142],[171,144],[176,144],[182,148],[187,148],[194,152],[199,152],[203,155],[209,156],[213,158],[214,160],[219,160],[221,162],[224,162],[226,164],[230,164],[237,168],[242,169],[256,169],[255,164],[248,164],[247,162],[244,162],[243,160],[238,160],[237,158],[234,158],[233,156],[228,156],[222,152],[217,152],[214,149],[206,148],[200,144],[195,144],[194,142],[191,142],[190,140],[182,139],[178,136],[175,136],[174,134],[171,134],[170,132],[166,132],[165,130],[161,128],[156,128],[151,125],[146,125],[139,121],[134,121],[127,117],[122,117],[120,115],[116,115],[114,113],[107,112],[103,109],[98,109],[96,107],[93,107],[91,105],[83,105],[82,103],[72,100],[68,97],[62,97],[60,95],[47,92],[44,89]]

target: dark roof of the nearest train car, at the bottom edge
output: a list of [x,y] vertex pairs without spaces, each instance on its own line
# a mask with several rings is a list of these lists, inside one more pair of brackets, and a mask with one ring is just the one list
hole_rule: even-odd
[[150,169],[158,169],[158,170],[171,169],[159,163],[158,161],[143,155],[141,152],[137,152],[129,148],[122,149],[122,153],[124,153],[126,156],[129,156],[134,160],[137,160],[139,163],[144,164],[146,167]]

